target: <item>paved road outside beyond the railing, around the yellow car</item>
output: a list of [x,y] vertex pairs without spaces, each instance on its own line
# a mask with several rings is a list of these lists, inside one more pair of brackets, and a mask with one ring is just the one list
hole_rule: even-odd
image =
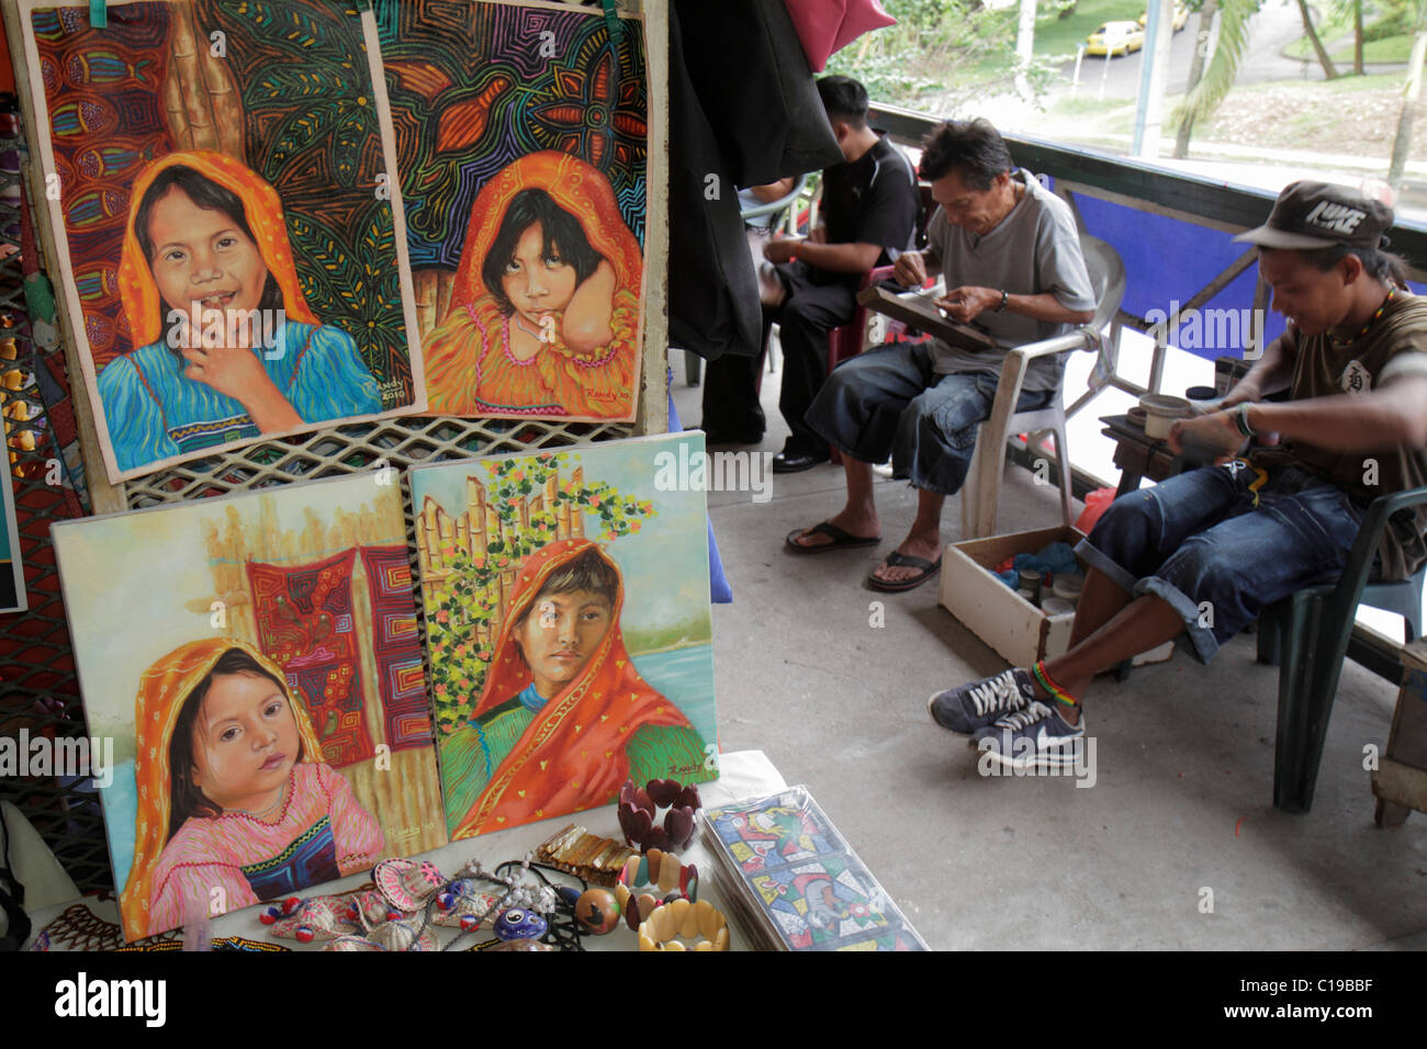
[[[1323,70],[1314,61],[1297,61],[1283,57],[1283,49],[1303,36],[1303,20],[1299,16],[1299,6],[1291,1],[1267,0],[1249,26],[1249,54],[1239,69],[1236,86],[1260,84],[1273,80],[1323,80]],[[1194,43],[1199,39],[1199,16],[1190,14],[1189,24],[1174,34],[1170,44],[1170,73],[1166,90],[1169,94],[1182,94],[1189,81],[1189,67],[1194,57]],[[1140,67],[1144,61],[1144,51],[1124,56],[1122,59],[1097,59],[1086,56],[1080,63],[1080,90],[1077,94],[1086,97],[1089,91],[1102,91],[1106,98],[1134,98],[1140,93]],[[1075,63],[1060,67],[1066,80],[1065,86],[1053,87],[1052,96],[1073,83]]]

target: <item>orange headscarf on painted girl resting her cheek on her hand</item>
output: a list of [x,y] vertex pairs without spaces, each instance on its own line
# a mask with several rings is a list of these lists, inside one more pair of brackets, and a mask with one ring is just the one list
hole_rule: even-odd
[[578,157],[545,151],[528,153],[501,168],[481,187],[465,228],[465,245],[461,250],[461,265],[455,271],[450,310],[468,305],[491,293],[481,280],[481,265],[501,231],[505,210],[521,190],[545,190],[551,200],[579,220],[589,245],[614,267],[618,287],[638,298],[644,254],[619,214],[609,180]]

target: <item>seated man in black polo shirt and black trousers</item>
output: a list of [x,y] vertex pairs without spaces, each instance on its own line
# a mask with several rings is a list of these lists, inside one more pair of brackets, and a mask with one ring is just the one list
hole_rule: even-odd
[[[912,247],[922,208],[912,166],[868,124],[868,93],[849,77],[818,81],[823,108],[846,161],[822,173],[821,224],[808,237],[769,241],[763,257],[781,284],[782,303],[763,307],[763,341],[776,321],[783,348],[778,408],[792,434],[773,460],[791,474],[828,460],[828,444],[803,414],[828,375],[828,334],[852,320],[862,274],[888,265]],[[772,274],[769,274],[772,275]],[[775,295],[776,297],[776,295]],[[756,444],[763,437],[758,402],[761,361],[721,357],[704,384],[704,430],[709,444]]]

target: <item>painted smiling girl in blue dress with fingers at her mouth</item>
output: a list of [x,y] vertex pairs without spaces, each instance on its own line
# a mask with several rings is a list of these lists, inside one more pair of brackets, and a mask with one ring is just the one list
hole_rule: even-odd
[[170,153],[134,183],[118,268],[138,348],[100,373],[123,471],[381,411],[351,335],[303,298],[271,186],[220,153]]

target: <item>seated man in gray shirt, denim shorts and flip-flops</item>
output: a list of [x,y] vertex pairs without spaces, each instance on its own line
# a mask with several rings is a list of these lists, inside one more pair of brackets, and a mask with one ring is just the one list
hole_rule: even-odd
[[[896,260],[896,278],[922,287],[946,277],[938,300],[958,321],[975,321],[999,345],[1050,338],[1095,313],[1075,218],[1010,160],[985,120],[948,121],[923,141],[920,176],[940,206],[929,250]],[[808,425],[842,452],[846,505],[788,535],[813,554],[868,547],[880,538],[872,465],[892,458],[892,477],[918,488],[918,512],[902,544],[873,569],[876,589],[902,591],[929,579],[942,562],[942,505],[966,480],[976,427],[990,415],[1005,353],[970,353],[940,340],[895,343],[839,365],[808,410]],[[1042,357],[1026,373],[1017,411],[1060,395],[1065,355]]]

